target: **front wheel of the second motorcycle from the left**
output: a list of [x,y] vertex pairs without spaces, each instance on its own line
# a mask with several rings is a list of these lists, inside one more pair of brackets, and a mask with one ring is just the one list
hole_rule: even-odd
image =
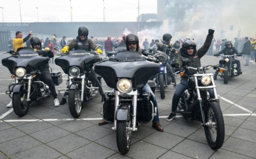
[[68,95],[69,111],[74,118],[81,115],[83,102],[81,101],[81,93],[78,89],[70,89]]

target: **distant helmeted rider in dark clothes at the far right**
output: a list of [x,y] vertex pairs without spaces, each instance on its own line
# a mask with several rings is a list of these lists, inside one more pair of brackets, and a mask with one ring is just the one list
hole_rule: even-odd
[[[234,55],[237,54],[237,56],[242,56],[240,53],[238,53],[237,49],[235,47],[233,47],[232,45],[232,41],[227,41],[225,43],[225,48],[223,50],[221,50],[219,53],[214,54],[213,56],[220,56],[220,54],[224,54],[224,55]],[[241,75],[242,71],[241,71],[241,65],[240,65],[240,61],[237,59],[234,59],[234,63],[236,64],[236,70],[237,70],[237,74]],[[219,71],[216,70],[213,79],[217,80],[217,76],[218,76]]]

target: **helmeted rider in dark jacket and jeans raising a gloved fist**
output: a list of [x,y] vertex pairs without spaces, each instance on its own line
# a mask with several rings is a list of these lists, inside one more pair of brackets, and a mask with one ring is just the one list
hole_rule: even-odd
[[[179,71],[180,68],[184,66],[188,67],[200,67],[201,62],[200,59],[207,53],[212,39],[214,30],[209,29],[208,35],[204,42],[204,45],[197,51],[196,50],[196,43],[193,40],[186,39],[183,44],[182,48],[180,49],[180,56],[177,59],[177,63],[179,64],[179,68],[175,68],[175,72]],[[186,71],[185,75],[182,76],[180,83],[178,84],[173,97],[172,97],[172,111],[169,117],[166,118],[167,121],[172,121],[176,117],[176,110],[178,107],[179,99],[182,93],[188,89],[188,78],[193,76],[196,72],[194,71]],[[214,97],[212,89],[209,90],[210,97]]]

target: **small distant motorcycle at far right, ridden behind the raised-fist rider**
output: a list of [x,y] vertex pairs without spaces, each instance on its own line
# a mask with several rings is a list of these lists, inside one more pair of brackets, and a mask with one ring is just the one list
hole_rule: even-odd
[[235,64],[233,63],[234,57],[237,55],[220,55],[220,56],[223,57],[223,59],[226,61],[226,64],[222,66],[224,68],[223,72],[221,73],[221,75],[218,75],[218,76],[223,78],[224,84],[227,84],[230,78],[239,76],[235,68]]

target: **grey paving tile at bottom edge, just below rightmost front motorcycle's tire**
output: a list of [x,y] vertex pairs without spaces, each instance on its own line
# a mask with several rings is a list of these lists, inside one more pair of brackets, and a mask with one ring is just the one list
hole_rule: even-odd
[[251,157],[247,157],[235,152],[230,152],[223,149],[218,149],[211,157],[210,159],[252,159]]

